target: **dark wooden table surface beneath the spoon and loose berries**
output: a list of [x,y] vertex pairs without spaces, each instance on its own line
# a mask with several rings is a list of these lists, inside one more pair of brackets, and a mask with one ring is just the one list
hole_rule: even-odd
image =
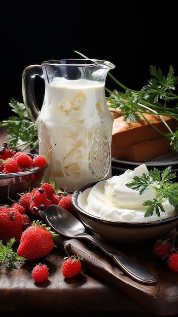
[[[1,138],[0,138],[1,139]],[[1,140],[0,140],[1,141]],[[4,140],[3,140],[4,141]],[[2,142],[1,142],[2,143]],[[174,235],[173,230],[169,235]],[[65,238],[66,239],[66,238]],[[115,265],[97,247],[82,240],[55,238],[55,248],[38,261],[28,261],[17,270],[0,262],[0,313],[3,316],[31,316],[33,312],[66,313],[89,316],[102,313],[113,316],[178,316],[178,273],[170,271],[153,254],[153,244],[115,246],[134,261],[148,268],[157,282],[137,283]],[[72,279],[63,278],[61,267],[63,245],[72,246],[69,253],[80,255],[82,273]],[[39,263],[47,264],[48,280],[34,283],[31,271]]]

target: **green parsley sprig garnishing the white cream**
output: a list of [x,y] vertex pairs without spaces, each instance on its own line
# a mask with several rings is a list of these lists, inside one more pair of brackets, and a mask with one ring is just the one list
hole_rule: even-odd
[[152,216],[154,211],[160,217],[160,212],[165,212],[162,203],[166,199],[178,211],[178,183],[172,181],[175,177],[175,173],[171,173],[171,166],[169,166],[162,173],[154,168],[148,174],[143,173],[142,176],[134,176],[133,181],[126,183],[126,186],[138,190],[140,195],[150,187],[155,189],[156,196],[154,199],[143,204],[147,207],[145,217]]

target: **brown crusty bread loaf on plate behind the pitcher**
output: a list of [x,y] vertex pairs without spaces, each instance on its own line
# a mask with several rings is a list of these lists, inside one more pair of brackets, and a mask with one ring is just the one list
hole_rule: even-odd
[[[169,133],[157,115],[145,114],[147,120],[159,131]],[[162,116],[172,131],[178,121],[171,116]],[[170,141],[166,140],[144,118],[127,124],[123,116],[114,119],[112,137],[112,156],[131,162],[145,162],[171,151]]]

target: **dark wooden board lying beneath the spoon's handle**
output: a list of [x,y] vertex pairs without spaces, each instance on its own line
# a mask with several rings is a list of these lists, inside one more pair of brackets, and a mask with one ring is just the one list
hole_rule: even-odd
[[[166,237],[173,236],[173,230]],[[63,249],[64,243],[72,245],[70,253],[78,254],[83,257],[82,265],[96,277],[124,291],[141,305],[157,315],[176,315],[178,314],[178,272],[172,272],[165,267],[160,259],[153,254],[153,244],[138,247],[121,247],[118,250],[130,256],[134,261],[146,267],[157,277],[157,282],[152,285],[145,285],[133,281],[115,265],[114,261],[105,256],[97,247],[88,242],[71,239],[63,241],[57,237],[55,244]],[[115,246],[116,247],[116,246]]]

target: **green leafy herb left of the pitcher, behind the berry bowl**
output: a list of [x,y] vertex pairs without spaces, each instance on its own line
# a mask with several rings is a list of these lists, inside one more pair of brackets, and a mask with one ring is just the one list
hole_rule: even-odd
[[22,151],[26,148],[38,148],[38,129],[37,125],[31,122],[25,110],[23,103],[11,99],[9,105],[16,116],[10,116],[8,120],[0,122],[0,127],[8,131],[7,141],[11,148],[23,147]]

